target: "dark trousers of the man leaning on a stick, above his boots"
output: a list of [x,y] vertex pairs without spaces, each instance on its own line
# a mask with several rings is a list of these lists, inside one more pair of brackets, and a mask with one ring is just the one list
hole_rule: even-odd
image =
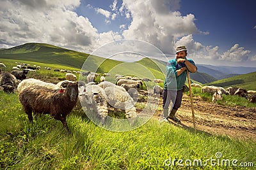
[[182,101],[182,90],[163,90],[163,108],[168,109],[172,102],[172,109],[178,110]]

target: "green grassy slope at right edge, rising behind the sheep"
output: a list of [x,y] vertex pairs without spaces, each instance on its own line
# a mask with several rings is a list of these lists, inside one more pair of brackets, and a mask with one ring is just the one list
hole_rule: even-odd
[[256,90],[256,72],[241,74],[223,80],[213,81],[206,85],[216,85],[220,87],[241,87],[246,90]]

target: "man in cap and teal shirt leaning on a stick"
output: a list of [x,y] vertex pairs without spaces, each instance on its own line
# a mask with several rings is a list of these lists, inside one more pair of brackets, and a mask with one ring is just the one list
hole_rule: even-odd
[[[163,113],[160,121],[168,122],[168,118],[175,122],[180,122],[175,117],[177,110],[180,108],[182,94],[186,82],[188,71],[195,73],[197,67],[195,62],[187,58],[188,51],[186,46],[176,48],[176,58],[168,61],[166,66],[166,78],[163,88]],[[169,105],[172,102],[172,108],[169,111]]]

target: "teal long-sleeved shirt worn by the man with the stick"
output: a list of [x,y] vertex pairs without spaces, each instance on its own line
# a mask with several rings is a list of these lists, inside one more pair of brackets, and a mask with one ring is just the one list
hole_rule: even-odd
[[[195,66],[195,62],[188,59],[191,64]],[[164,80],[164,89],[168,90],[181,90],[186,82],[187,73],[184,71],[179,76],[177,75],[177,70],[181,67],[186,66],[184,63],[178,64],[176,59],[169,60],[166,66],[166,78]],[[197,69],[197,68],[196,68]]]

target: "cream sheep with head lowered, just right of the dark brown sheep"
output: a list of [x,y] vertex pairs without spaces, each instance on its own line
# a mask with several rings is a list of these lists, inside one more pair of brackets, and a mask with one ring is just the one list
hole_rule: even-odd
[[83,107],[104,124],[108,116],[108,101],[104,97],[104,90],[98,85],[86,85],[85,90],[79,93],[79,100]]

